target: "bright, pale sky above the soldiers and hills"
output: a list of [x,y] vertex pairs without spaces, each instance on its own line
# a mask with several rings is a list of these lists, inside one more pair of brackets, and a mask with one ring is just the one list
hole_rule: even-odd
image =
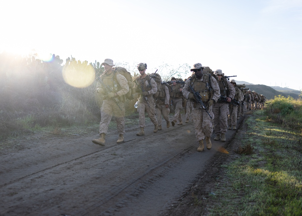
[[11,0],[0,18],[0,52],[143,62],[162,74],[201,63],[238,81],[302,89],[302,0]]

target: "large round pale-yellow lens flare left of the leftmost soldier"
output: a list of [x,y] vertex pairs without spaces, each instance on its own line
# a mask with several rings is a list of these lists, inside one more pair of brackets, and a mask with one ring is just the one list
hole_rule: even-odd
[[95,80],[95,71],[91,64],[78,64],[76,61],[65,64],[62,69],[63,79],[73,87],[85,88]]

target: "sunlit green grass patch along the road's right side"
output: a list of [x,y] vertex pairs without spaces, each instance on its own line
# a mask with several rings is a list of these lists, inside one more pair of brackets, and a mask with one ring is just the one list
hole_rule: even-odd
[[246,120],[242,148],[253,151],[222,165],[210,215],[302,215],[302,134],[266,117],[255,111]]

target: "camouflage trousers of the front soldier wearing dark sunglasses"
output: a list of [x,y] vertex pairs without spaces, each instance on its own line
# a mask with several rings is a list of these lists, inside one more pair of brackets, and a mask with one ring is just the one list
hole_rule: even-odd
[[[212,106],[209,107],[208,113],[212,116],[212,118],[214,118]],[[191,116],[195,128],[197,141],[202,140],[205,137],[212,136],[212,121],[205,110],[200,109],[198,106],[193,107]]]

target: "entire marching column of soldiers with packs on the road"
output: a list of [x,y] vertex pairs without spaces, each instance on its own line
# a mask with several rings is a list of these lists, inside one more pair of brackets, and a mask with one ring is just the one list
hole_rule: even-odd
[[[140,76],[133,83],[132,77],[128,77],[120,70],[114,68],[113,60],[105,59],[102,63],[104,73],[98,77],[96,93],[103,96],[101,106],[101,121],[99,127],[99,139],[92,142],[104,146],[105,136],[109,123],[114,115],[117,123],[119,138],[117,143],[124,142],[125,134],[125,101],[130,100],[127,95],[137,92],[139,95],[135,105],[139,112],[140,131],[137,136],[145,135],[145,112],[154,124],[154,133],[162,129],[162,117],[166,127],[175,126],[178,121],[182,123],[181,110],[185,110],[185,123],[193,122],[196,139],[199,142],[197,151],[204,150],[204,140],[207,149],[211,149],[210,137],[215,133],[215,141],[226,141],[227,130],[237,129],[237,120],[249,110],[261,110],[266,98],[263,94],[245,88],[245,85],[237,85],[236,80],[229,81],[222,70],[214,72],[209,67],[203,67],[196,63],[191,69],[192,75],[182,81],[172,77],[170,81],[163,82],[160,74],[146,74],[147,64],[140,63],[137,69]],[[118,69],[118,70],[117,70]],[[129,72],[128,72],[129,73]],[[236,76],[230,76],[236,77]],[[133,88],[132,88],[133,87]],[[170,122],[170,108],[175,114]]]

